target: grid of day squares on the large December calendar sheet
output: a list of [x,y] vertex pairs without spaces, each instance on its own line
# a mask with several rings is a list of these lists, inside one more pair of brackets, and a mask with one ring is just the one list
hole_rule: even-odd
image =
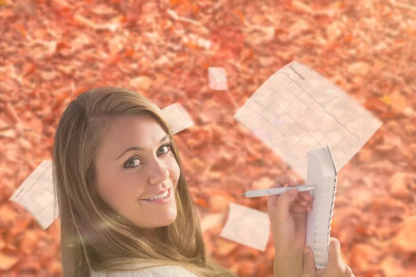
[[245,105],[257,113],[254,129],[266,129],[266,143],[300,163],[306,163],[307,150],[329,145],[337,164],[350,159],[347,150],[358,144],[352,132],[285,73],[272,75]]

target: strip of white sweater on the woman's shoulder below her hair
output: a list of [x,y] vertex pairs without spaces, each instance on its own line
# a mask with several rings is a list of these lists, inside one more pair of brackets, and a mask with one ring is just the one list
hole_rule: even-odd
[[[106,277],[106,272],[92,271],[91,277]],[[191,271],[178,265],[164,265],[142,269],[138,271],[112,271],[108,272],[109,277],[198,277]]]

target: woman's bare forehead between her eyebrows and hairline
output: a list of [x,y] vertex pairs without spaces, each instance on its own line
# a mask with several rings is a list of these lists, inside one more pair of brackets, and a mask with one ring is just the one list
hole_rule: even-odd
[[109,123],[102,145],[116,153],[130,146],[153,148],[164,135],[166,132],[152,116],[123,116]]

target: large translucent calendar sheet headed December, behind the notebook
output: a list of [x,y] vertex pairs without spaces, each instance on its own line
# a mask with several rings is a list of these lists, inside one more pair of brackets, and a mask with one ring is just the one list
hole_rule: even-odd
[[381,121],[319,73],[286,64],[234,115],[303,179],[306,152],[329,145],[340,170],[381,126]]

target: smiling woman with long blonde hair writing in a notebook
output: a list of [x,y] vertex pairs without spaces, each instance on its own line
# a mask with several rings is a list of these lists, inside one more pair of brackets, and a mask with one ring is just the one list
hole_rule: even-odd
[[[144,96],[117,87],[78,96],[60,118],[53,165],[65,277],[235,276],[207,259],[171,130]],[[274,186],[285,183],[295,185]],[[302,274],[311,199],[297,190],[269,199],[275,276]]]

